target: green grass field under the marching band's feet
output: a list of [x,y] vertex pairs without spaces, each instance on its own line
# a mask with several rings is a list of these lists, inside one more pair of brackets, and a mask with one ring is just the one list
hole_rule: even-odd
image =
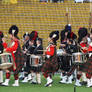
[[[44,87],[46,80],[43,77],[41,85],[33,85],[30,83],[23,84],[20,82],[19,87],[12,87],[11,85],[14,80],[11,78],[10,86],[0,86],[0,92],[74,92],[73,84],[59,84],[59,76],[54,76],[53,80],[52,87]],[[92,92],[92,88],[86,88],[85,86],[76,87],[76,92]]]

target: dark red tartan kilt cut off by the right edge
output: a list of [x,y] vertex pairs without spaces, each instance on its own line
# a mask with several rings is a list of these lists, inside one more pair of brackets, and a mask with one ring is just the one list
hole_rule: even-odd
[[92,74],[92,56],[89,57],[87,62],[84,64],[83,72]]

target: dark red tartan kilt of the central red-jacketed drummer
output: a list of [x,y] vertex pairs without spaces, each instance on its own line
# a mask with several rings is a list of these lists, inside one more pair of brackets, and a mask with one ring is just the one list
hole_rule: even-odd
[[45,63],[42,66],[43,73],[47,73],[47,74],[54,73],[57,70],[58,70],[58,61],[56,55],[45,60]]

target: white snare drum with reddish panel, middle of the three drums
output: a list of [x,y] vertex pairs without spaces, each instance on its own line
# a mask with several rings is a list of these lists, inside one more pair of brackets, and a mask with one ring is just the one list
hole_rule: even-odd
[[37,55],[30,56],[30,66],[42,66],[42,57]]

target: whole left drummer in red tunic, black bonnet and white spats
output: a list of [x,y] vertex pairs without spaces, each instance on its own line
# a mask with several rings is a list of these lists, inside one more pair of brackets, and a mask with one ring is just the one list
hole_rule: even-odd
[[19,29],[16,25],[12,25],[9,29],[11,45],[7,47],[5,51],[11,53],[13,57],[13,66],[6,70],[6,79],[5,82],[2,83],[4,86],[9,86],[11,71],[13,71],[15,78],[15,82],[12,86],[19,86],[18,74],[21,71],[26,58],[20,48],[19,39],[17,36],[18,32]]

